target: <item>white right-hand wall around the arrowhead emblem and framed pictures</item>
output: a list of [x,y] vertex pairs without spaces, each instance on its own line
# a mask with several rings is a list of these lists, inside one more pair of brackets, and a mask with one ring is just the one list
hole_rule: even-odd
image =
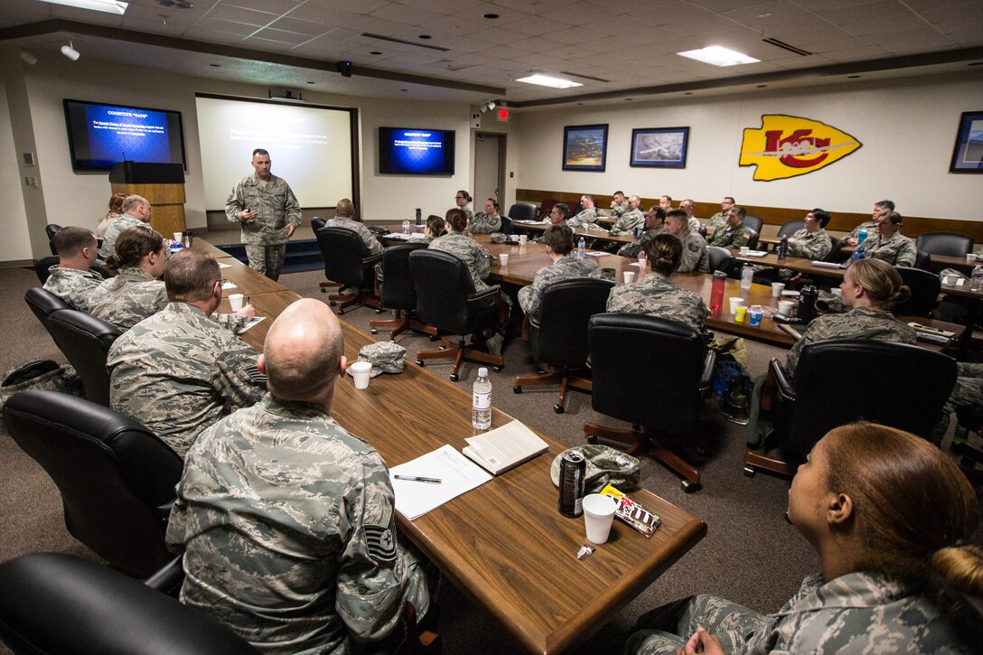
[[[983,177],[949,172],[959,115],[983,109],[983,71],[958,76],[745,91],[698,99],[524,112],[518,125],[520,188],[764,207],[869,211],[890,198],[902,214],[983,220]],[[754,181],[737,165],[744,128],[762,114],[822,121],[863,147],[813,173]],[[562,171],[564,125],[608,123],[607,171]],[[685,169],[631,168],[633,128],[690,127]]]

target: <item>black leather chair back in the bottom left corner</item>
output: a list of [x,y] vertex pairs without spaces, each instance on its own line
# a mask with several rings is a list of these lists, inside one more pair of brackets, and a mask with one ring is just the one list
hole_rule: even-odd
[[108,566],[33,553],[0,565],[0,638],[15,653],[259,653],[195,608]]

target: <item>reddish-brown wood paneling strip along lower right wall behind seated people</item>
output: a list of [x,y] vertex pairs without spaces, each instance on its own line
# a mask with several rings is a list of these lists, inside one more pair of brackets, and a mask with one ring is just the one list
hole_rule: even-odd
[[[544,200],[553,199],[561,203],[567,203],[573,207],[580,202],[581,193],[571,193],[565,191],[549,191],[543,189],[516,189],[515,200],[524,203],[541,204]],[[610,207],[611,196],[592,194],[594,203],[599,208]],[[673,198],[672,206],[679,207],[679,202],[684,198]],[[706,218],[721,210],[720,201],[701,202],[693,199],[696,203],[696,215]],[[642,208],[650,208],[659,204],[659,198],[642,198]],[[871,202],[871,207],[874,203]],[[778,231],[783,223],[789,220],[800,220],[812,208],[788,208],[788,207],[759,207],[757,205],[742,205],[747,212],[761,216],[765,225],[773,225],[773,231]],[[849,232],[856,225],[870,219],[869,213],[858,213],[855,211],[838,211],[836,208],[824,208],[829,211],[833,219],[827,225],[827,229],[834,232]],[[903,211],[901,215],[904,215]],[[766,227],[763,230],[768,234]],[[957,220],[954,218],[936,218],[933,216],[904,216],[904,223],[901,227],[904,236],[915,238],[922,232],[954,232],[965,234],[971,237],[975,243],[983,243],[983,220]]]

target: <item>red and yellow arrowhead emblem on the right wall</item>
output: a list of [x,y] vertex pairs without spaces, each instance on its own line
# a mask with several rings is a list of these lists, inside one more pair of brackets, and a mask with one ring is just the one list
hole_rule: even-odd
[[829,166],[860,146],[856,138],[826,123],[765,114],[760,129],[745,128],[739,163],[757,166],[754,179],[771,182]]

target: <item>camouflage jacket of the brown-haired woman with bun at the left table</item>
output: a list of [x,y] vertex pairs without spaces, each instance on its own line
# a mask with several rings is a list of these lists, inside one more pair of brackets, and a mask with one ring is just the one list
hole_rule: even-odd
[[[167,307],[167,289],[142,268],[125,267],[92,292],[88,313],[123,331]],[[212,314],[209,317],[232,331],[246,324],[242,314]]]

